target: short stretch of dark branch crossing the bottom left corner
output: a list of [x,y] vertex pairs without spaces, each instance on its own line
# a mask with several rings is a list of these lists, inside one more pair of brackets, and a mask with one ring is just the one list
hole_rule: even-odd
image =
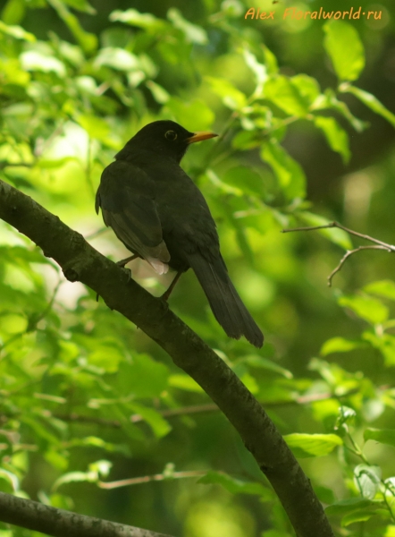
[[53,537],[168,537],[130,525],[49,507],[38,501],[0,492],[0,518]]

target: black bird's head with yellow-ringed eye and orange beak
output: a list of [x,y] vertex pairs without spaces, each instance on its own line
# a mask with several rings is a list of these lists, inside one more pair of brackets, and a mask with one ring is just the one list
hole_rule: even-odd
[[[124,149],[128,151],[146,150],[156,155],[164,155],[177,162],[181,161],[189,144],[208,140],[218,134],[214,132],[189,132],[174,121],[162,120],[147,124],[128,141]],[[116,155],[122,158],[123,150]]]

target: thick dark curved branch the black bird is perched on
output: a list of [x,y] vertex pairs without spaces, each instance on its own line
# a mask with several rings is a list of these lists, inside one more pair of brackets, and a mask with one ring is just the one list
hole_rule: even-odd
[[38,244],[46,257],[62,267],[68,280],[89,286],[109,308],[135,323],[198,382],[238,430],[271,482],[298,537],[333,537],[307,476],[263,407],[226,363],[169,310],[167,303],[147,293],[81,234],[3,181],[0,217]]

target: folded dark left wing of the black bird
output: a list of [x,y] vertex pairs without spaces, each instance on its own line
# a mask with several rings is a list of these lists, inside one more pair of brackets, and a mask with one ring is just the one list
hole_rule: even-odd
[[116,160],[102,174],[96,195],[105,226],[111,226],[125,246],[159,274],[168,270],[170,254],[164,243],[155,205],[155,183],[129,162]]

